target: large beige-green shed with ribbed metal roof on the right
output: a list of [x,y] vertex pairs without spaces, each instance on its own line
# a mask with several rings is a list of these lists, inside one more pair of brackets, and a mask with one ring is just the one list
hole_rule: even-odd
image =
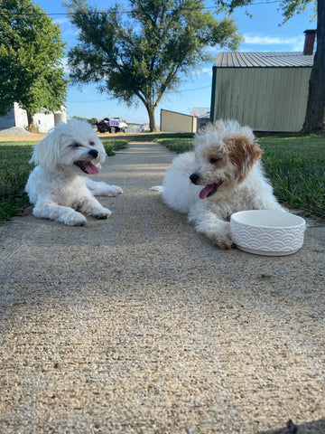
[[237,119],[255,131],[302,129],[313,54],[221,52],[213,66],[210,120]]

